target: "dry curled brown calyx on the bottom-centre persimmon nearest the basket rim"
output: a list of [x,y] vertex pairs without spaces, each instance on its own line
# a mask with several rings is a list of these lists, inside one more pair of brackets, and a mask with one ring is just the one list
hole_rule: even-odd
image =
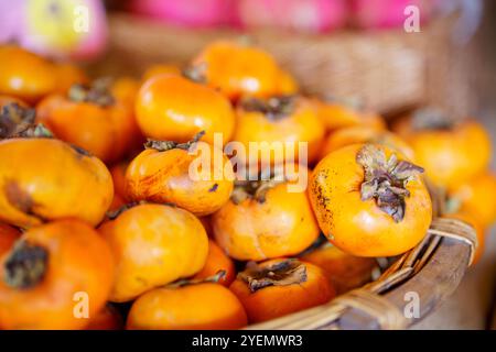
[[249,262],[238,277],[255,293],[268,286],[299,285],[306,282],[306,266],[299,260],[285,260],[268,266]]

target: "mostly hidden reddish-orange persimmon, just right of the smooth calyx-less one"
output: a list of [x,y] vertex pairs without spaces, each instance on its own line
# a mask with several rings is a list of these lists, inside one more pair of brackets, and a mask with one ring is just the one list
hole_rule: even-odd
[[213,240],[208,240],[208,256],[205,266],[194,278],[207,278],[217,274],[219,271],[225,271],[226,275],[218,280],[224,286],[229,286],[236,277],[236,268],[234,262],[228,257],[223,250]]

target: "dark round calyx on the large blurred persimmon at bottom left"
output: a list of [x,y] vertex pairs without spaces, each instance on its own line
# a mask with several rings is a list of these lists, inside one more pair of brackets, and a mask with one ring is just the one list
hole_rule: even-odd
[[47,264],[48,252],[43,246],[19,241],[3,264],[3,282],[13,288],[31,288],[43,279]]

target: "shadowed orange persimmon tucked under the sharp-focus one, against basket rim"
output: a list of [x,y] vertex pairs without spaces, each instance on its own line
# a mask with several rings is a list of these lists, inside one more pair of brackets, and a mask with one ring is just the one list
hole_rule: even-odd
[[375,258],[349,255],[331,243],[301,258],[321,267],[338,295],[370,282],[373,270],[377,267]]

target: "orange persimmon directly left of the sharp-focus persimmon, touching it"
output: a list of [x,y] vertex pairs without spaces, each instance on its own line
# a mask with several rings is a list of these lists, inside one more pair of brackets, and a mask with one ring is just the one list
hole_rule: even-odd
[[[304,167],[304,166],[300,166]],[[212,216],[215,240],[229,256],[262,261],[296,254],[319,235],[306,191],[289,180],[246,182]]]

